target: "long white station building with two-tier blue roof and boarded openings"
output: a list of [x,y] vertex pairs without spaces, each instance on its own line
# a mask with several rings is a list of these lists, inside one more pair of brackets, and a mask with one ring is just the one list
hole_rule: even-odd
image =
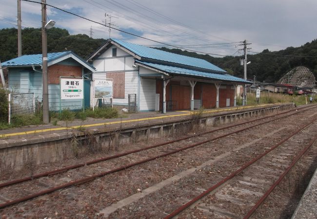
[[93,78],[113,79],[113,104],[138,111],[193,110],[236,106],[237,86],[250,81],[227,74],[203,59],[109,39],[88,59]]

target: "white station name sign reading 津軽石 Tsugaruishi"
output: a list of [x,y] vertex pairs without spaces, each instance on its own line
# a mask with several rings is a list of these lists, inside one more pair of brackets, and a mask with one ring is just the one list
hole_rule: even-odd
[[83,79],[70,77],[60,78],[60,99],[83,99]]

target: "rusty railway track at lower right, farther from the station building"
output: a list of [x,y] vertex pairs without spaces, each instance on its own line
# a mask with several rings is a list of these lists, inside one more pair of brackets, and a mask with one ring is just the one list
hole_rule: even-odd
[[[315,143],[316,126],[310,125],[316,120],[296,130],[285,140],[244,164],[195,199],[180,206],[165,219],[171,219],[178,214],[179,218],[188,218],[188,216],[250,218],[290,169]],[[304,133],[303,130],[305,130]],[[303,144],[307,138],[311,140]],[[312,158],[308,156],[306,159]],[[192,205],[195,205],[195,208]],[[186,210],[188,208],[190,209]],[[248,213],[245,214],[246,212]]]

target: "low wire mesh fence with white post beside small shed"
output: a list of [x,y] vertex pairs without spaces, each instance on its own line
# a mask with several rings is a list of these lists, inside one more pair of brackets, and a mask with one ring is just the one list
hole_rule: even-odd
[[8,122],[11,122],[11,116],[17,114],[35,113],[35,95],[31,93],[9,93],[8,94]]

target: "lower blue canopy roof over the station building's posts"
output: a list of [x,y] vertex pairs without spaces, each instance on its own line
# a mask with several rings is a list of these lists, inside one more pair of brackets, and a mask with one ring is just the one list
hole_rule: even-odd
[[136,60],[136,62],[147,65],[149,67],[152,67],[152,68],[155,68],[158,70],[161,70],[161,71],[166,72],[166,73],[176,73],[176,74],[182,74],[182,75],[206,77],[206,78],[211,78],[211,79],[215,79],[215,80],[252,84],[252,82],[250,82],[250,81],[232,76],[230,74],[199,72],[199,71],[190,70],[190,69],[183,69],[183,68],[178,68],[178,67],[174,67],[174,66],[167,66],[167,65],[160,65],[160,64],[149,63],[149,62],[142,62],[142,61],[138,61],[138,60]]

